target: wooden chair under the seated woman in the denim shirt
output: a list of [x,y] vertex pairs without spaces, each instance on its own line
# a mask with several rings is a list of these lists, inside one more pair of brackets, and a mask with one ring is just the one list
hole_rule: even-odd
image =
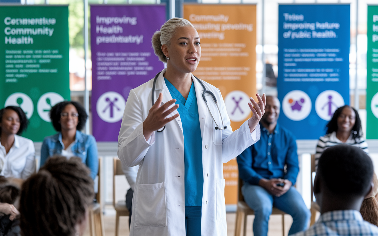
[[98,193],[96,193],[97,203],[89,209],[89,231],[91,236],[105,236],[104,217],[101,204],[101,165],[102,158],[98,159]]

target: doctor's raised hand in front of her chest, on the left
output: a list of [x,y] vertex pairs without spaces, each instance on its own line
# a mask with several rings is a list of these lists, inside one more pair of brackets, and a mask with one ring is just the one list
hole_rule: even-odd
[[[156,100],[155,104],[151,107],[150,111],[148,112],[148,116],[146,120],[143,122],[143,135],[146,140],[148,140],[152,133],[156,130],[160,130],[164,127],[168,122],[171,120],[176,119],[179,114],[175,114],[169,118],[166,118],[170,113],[177,110],[178,104],[174,105],[172,108],[167,110],[167,108],[176,102],[176,99],[172,99],[163,106],[161,105],[161,101],[163,101],[163,94],[160,93],[158,99]],[[167,110],[167,111],[166,111]]]

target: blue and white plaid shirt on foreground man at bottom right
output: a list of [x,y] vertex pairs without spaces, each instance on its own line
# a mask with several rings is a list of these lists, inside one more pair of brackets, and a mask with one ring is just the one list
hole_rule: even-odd
[[378,236],[378,227],[370,224],[356,210],[328,211],[308,230],[292,236]]

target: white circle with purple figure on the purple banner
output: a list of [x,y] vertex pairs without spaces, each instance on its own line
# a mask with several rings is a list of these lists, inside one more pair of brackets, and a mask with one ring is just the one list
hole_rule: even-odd
[[125,110],[125,99],[116,92],[102,94],[96,103],[96,110],[101,120],[108,123],[115,123],[122,119]]

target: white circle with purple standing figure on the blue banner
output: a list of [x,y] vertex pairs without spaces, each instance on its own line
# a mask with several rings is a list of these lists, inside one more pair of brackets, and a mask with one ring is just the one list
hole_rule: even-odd
[[315,111],[323,120],[331,120],[336,109],[344,105],[341,94],[335,90],[325,90],[315,100]]

